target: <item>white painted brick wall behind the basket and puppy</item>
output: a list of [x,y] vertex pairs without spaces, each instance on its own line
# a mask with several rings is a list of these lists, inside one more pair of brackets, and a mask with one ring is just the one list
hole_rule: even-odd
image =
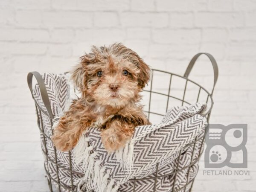
[[[0,0],[0,192],[48,191],[26,74],[63,73],[114,42],[181,75],[197,52],[215,56],[211,122],[248,123],[250,176],[203,176],[201,160],[194,191],[256,191],[256,0]],[[211,88],[206,58],[191,79]]]

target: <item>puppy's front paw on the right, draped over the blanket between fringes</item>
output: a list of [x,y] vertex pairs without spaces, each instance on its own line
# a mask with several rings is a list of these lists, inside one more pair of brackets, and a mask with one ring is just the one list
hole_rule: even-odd
[[106,129],[102,131],[102,143],[108,152],[116,151],[125,146],[126,140],[122,140],[115,131]]

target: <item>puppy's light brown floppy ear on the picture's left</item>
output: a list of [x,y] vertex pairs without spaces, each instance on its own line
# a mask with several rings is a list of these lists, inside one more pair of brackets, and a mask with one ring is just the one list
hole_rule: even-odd
[[74,85],[80,90],[84,91],[86,88],[86,78],[85,78],[85,69],[82,63],[76,65],[76,67],[71,72],[71,79],[74,82]]

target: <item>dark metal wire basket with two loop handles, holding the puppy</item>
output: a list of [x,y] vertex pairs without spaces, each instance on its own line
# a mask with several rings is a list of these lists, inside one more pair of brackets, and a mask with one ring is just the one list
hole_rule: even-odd
[[[195,81],[192,81],[190,79],[188,79],[189,73],[192,70],[192,67],[195,64],[195,61],[198,59],[198,57],[200,55],[206,55],[209,60],[212,63],[212,67],[213,67],[213,72],[214,72],[214,81],[213,81],[213,88],[212,91],[209,93],[204,87],[202,87],[200,84],[196,83]],[[44,144],[44,149],[42,148],[43,154],[47,159],[47,163],[51,162],[53,164],[55,164],[56,166],[56,174],[57,174],[57,180],[54,179],[49,172],[46,169],[46,165],[44,164],[44,168],[45,168],[45,172],[48,178],[48,184],[49,184],[49,190],[50,192],[53,192],[53,183],[55,183],[56,186],[58,186],[57,191],[61,192],[61,189],[65,189],[68,190],[70,192],[76,192],[74,190],[74,185],[73,185],[73,174],[80,174],[81,176],[83,176],[82,173],[79,172],[75,172],[72,170],[72,166],[71,166],[71,162],[72,162],[72,158],[71,158],[71,153],[70,151],[68,152],[69,154],[69,163],[70,163],[70,167],[63,167],[61,165],[58,164],[58,160],[57,160],[57,155],[56,155],[56,148],[54,148],[54,153],[55,153],[55,158],[49,157],[47,155],[47,145],[46,140],[50,140],[50,137],[44,133],[44,125],[42,122],[42,113],[44,113],[44,115],[48,116],[50,119],[50,124],[51,124],[51,128],[53,125],[53,119],[54,116],[52,114],[51,111],[51,106],[50,106],[50,102],[49,102],[49,96],[47,94],[47,90],[44,84],[44,80],[42,79],[41,75],[38,72],[31,72],[28,74],[27,76],[27,81],[28,81],[28,86],[29,89],[31,91],[31,93],[33,93],[33,86],[32,86],[32,78],[33,76],[35,76],[39,89],[41,91],[41,97],[42,97],[42,101],[44,102],[44,105],[47,109],[47,111],[44,111],[39,104],[36,102],[35,98],[32,97],[35,101],[35,108],[36,108],[36,114],[37,114],[37,122],[38,122],[38,127],[41,133],[41,136],[43,137],[43,144]],[[157,81],[157,78],[161,78],[165,79],[163,81]],[[195,102],[206,102],[207,103],[207,111],[204,113],[204,117],[206,117],[207,119],[207,123],[209,123],[209,117],[211,114],[211,110],[212,110],[212,106],[213,106],[213,99],[212,99],[212,94],[215,88],[215,84],[216,81],[218,79],[218,66],[217,63],[215,61],[215,59],[212,57],[212,55],[210,55],[209,53],[198,53],[197,55],[195,55],[192,60],[190,61],[186,72],[184,73],[183,76],[174,74],[174,73],[169,73],[166,71],[162,71],[162,70],[152,70],[152,76],[151,76],[151,82],[148,86],[148,89],[145,89],[143,91],[143,100],[144,101],[148,101],[148,103],[144,103],[145,104],[145,113],[147,113],[148,115],[148,119],[151,122],[154,122],[157,119],[162,118],[162,116],[164,116],[164,114],[166,113],[166,111],[170,108],[170,106],[173,106],[174,103],[175,105],[190,105],[192,103]],[[174,81],[177,81],[177,86],[174,86]],[[181,81],[184,83],[184,85],[182,86]],[[155,83],[154,83],[155,82]],[[159,83],[159,82],[167,82],[165,83]],[[192,88],[191,88],[192,86]],[[183,88],[182,88],[183,87]],[[175,93],[176,92],[176,93]],[[152,103],[156,103],[157,105],[152,105]],[[206,128],[207,129],[207,128]],[[207,130],[204,131],[205,133],[207,132]],[[53,134],[53,130],[52,130],[52,134]],[[193,146],[193,150],[192,150],[192,156],[194,154],[194,149],[195,149],[195,144],[197,142],[201,143],[201,147],[199,149],[199,155],[198,158],[196,158],[195,160],[192,160],[189,163],[188,166],[183,167],[182,169],[178,169],[179,164],[180,164],[180,156],[181,156],[181,150],[179,152],[179,155],[177,157],[177,163],[175,165],[175,171],[167,174],[167,175],[161,175],[158,176],[158,164],[156,167],[156,174],[154,177],[146,177],[146,178],[140,178],[140,179],[131,179],[129,181],[131,181],[134,185],[134,190],[133,192],[135,192],[135,186],[138,184],[137,181],[143,181],[143,180],[152,180],[154,179],[154,192],[157,192],[157,178],[160,177],[166,177],[166,176],[174,176],[174,183],[173,183],[173,187],[172,189],[170,189],[170,192],[191,192],[192,191],[192,185],[193,182],[195,180],[195,177],[192,178],[191,180],[187,180],[186,184],[183,185],[181,188],[176,189],[175,188],[175,183],[177,180],[177,173],[183,171],[184,169],[188,169],[190,170],[191,167],[193,165],[195,165],[195,163],[198,163],[199,158],[201,157],[201,154],[203,153],[203,143],[204,143],[204,137],[205,134],[203,136],[200,137],[196,137],[195,140],[192,143],[189,143],[188,145],[186,145],[186,147],[188,146]],[[58,169],[64,169],[67,170],[68,172],[70,172],[70,178],[71,178],[71,187],[69,186],[65,186],[63,183],[60,182],[60,177],[59,177],[59,173],[58,173]],[[189,171],[187,172],[186,177],[189,177]]]

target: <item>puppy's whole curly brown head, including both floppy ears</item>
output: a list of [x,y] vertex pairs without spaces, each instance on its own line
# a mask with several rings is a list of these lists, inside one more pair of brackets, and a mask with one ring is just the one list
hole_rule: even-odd
[[84,97],[98,105],[121,108],[140,98],[149,73],[137,53],[122,44],[113,44],[93,47],[92,53],[81,58],[72,77]]

